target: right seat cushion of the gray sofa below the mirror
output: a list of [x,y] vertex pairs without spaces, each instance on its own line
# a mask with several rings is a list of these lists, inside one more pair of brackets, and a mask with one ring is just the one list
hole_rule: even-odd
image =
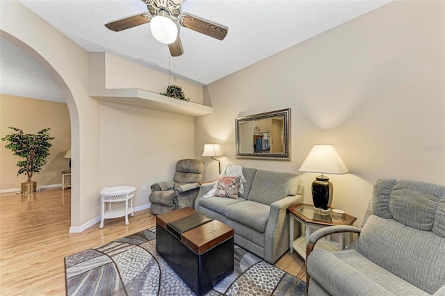
[[258,202],[245,201],[225,208],[225,216],[264,233],[269,218],[270,206]]

